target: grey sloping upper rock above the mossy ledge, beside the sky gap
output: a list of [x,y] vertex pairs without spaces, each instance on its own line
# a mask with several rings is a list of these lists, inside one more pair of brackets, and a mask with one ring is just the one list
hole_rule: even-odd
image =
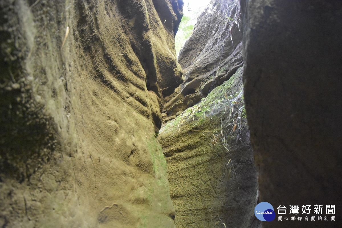
[[164,120],[206,97],[242,66],[240,4],[212,0],[179,55],[184,82],[166,98]]

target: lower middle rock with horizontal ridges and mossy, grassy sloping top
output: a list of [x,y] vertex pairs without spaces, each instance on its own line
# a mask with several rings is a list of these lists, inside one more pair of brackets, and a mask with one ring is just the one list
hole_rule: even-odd
[[[259,227],[257,176],[244,111],[242,68],[158,135],[176,227]],[[225,224],[225,225],[224,225]]]

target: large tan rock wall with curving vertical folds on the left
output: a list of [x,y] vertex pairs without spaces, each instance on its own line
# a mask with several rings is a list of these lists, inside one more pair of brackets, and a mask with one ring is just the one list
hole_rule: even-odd
[[155,132],[182,4],[0,2],[0,227],[174,227]]

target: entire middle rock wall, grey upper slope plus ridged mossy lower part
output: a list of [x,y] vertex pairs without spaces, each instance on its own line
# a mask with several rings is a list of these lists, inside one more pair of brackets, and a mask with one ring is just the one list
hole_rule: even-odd
[[242,88],[239,9],[238,1],[211,1],[181,51],[184,82],[166,98],[167,123],[158,140],[177,227],[260,225],[253,212],[257,176]]

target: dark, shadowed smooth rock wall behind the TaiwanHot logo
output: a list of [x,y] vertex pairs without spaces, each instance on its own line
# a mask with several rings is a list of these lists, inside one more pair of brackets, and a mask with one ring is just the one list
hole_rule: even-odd
[[[336,222],[320,223],[316,215],[305,227],[341,227],[342,4],[241,0],[241,8],[260,201],[287,208],[323,204],[323,214],[325,205],[336,204]],[[263,227],[304,225],[274,221]]]

